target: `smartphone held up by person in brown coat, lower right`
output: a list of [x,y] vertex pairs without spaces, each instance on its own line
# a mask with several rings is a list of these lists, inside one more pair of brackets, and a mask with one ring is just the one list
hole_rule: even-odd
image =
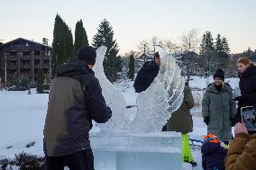
[[241,108],[242,122],[245,124],[247,130],[256,129],[255,126],[255,108],[254,106],[246,106]]

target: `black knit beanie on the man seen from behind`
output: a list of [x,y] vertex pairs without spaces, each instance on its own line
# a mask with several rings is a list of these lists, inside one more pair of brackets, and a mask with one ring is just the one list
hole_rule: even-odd
[[87,61],[88,65],[96,64],[96,49],[91,46],[83,46],[78,49],[78,59]]

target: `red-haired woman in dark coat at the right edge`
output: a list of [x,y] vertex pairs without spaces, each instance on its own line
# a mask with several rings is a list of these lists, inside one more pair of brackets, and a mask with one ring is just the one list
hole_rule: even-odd
[[246,106],[256,107],[256,66],[250,63],[248,58],[238,58],[236,62],[238,76],[240,78],[239,87],[241,96],[234,100],[238,101],[238,109],[233,125],[241,120],[241,108]]

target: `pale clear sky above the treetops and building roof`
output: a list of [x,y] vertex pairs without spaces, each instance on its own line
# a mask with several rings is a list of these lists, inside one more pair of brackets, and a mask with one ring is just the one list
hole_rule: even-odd
[[256,49],[255,0],[1,0],[0,40],[22,37],[52,41],[56,13],[73,32],[82,19],[88,40],[106,18],[120,54],[152,36],[178,42],[184,31],[199,29],[226,37],[232,52]]

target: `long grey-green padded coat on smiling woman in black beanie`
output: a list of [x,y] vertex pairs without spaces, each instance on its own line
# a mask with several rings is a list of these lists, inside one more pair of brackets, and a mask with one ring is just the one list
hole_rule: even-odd
[[233,89],[230,85],[224,84],[222,91],[218,92],[215,84],[212,83],[206,88],[202,100],[202,115],[209,117],[207,132],[214,134],[220,140],[232,139],[232,119],[236,107],[232,99]]

